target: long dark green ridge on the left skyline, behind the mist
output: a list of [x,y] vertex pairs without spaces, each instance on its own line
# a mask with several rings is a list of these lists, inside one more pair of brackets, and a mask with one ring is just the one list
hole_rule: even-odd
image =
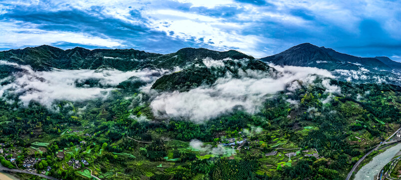
[[174,68],[174,66],[183,66],[188,62],[206,57],[253,59],[252,56],[235,50],[220,52],[206,48],[183,48],[169,54],[149,53],[135,49],[89,50],[82,47],[63,50],[49,45],[0,51],[1,60],[28,64],[36,70],[46,70],[51,67],[60,69],[112,67],[119,70],[139,67]]

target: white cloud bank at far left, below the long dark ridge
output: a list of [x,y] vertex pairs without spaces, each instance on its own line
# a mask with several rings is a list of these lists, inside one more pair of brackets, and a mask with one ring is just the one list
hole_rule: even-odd
[[[18,98],[25,106],[34,100],[48,108],[51,108],[55,100],[82,101],[106,97],[110,90],[114,89],[113,86],[131,76],[137,76],[140,80],[150,83],[167,72],[151,69],[126,72],[115,69],[34,71],[28,65],[18,65],[2,60],[0,64],[21,69],[13,73],[14,80],[11,83],[0,86],[0,97],[7,93],[18,94]],[[77,87],[75,85],[75,82],[91,78],[98,79],[100,84],[110,87]]]

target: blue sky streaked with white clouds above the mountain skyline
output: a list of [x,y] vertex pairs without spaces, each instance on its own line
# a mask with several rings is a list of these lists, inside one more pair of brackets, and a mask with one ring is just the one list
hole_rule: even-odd
[[0,49],[183,47],[254,57],[310,42],[401,61],[400,0],[0,0]]

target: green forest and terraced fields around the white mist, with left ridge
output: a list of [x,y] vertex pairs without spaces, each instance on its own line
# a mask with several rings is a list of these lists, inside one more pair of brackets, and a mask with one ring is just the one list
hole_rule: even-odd
[[[275,72],[237,51],[202,48],[166,55],[132,49],[63,51],[49,46],[4,53],[7,60],[35,69],[173,69],[189,64],[156,80],[151,89],[155,93],[208,86],[227,74],[240,79],[239,74],[249,69],[265,75]],[[63,61],[56,60],[60,57]],[[201,62],[205,57],[240,60],[227,59],[221,67],[206,68]],[[199,63],[191,66],[191,62]],[[327,92],[323,80],[339,86],[341,93]],[[236,106],[194,122],[186,117],[156,116],[153,97],[138,89],[143,84],[131,77],[107,98],[58,100],[53,104],[57,110],[35,101],[23,106],[17,95],[9,95],[13,103],[1,99],[1,164],[34,168],[58,179],[92,178],[87,168],[101,179],[344,179],[369,148],[400,127],[401,87],[396,85],[318,76],[313,83],[300,81],[295,90],[269,94],[254,113]],[[88,79],[75,85],[95,87],[99,81]],[[202,142],[194,144],[193,139]],[[34,165],[26,167],[31,161]]]

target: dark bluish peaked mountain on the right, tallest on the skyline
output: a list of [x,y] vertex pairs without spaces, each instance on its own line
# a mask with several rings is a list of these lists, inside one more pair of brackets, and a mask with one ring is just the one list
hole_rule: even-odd
[[302,43],[260,60],[277,65],[323,68],[346,81],[388,82],[401,85],[400,62],[393,61],[389,57],[357,57],[311,43]]

